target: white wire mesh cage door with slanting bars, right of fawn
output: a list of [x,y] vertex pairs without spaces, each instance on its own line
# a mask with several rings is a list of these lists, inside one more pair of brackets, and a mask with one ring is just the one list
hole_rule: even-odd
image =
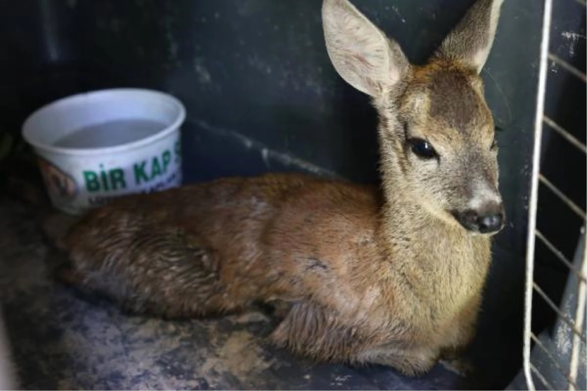
[[[575,0],[579,4],[587,6],[587,0]],[[528,222],[528,241],[527,241],[527,273],[526,273],[526,290],[525,290],[525,319],[524,319],[524,375],[527,387],[530,391],[535,391],[537,386],[540,389],[546,390],[561,390],[560,383],[554,386],[554,380],[549,378],[545,371],[538,368],[537,363],[532,362],[532,351],[538,349],[549,362],[551,368],[555,368],[558,375],[565,380],[565,389],[569,391],[579,390],[578,376],[579,369],[585,365],[585,355],[587,351],[583,346],[587,346],[587,336],[585,335],[585,307],[587,304],[587,212],[577,205],[573,200],[567,196],[563,191],[557,188],[545,175],[540,171],[541,161],[541,140],[542,127],[544,124],[548,125],[554,132],[558,133],[564,140],[569,142],[573,148],[582,152],[585,157],[585,164],[587,165],[587,145],[576,138],[567,131],[564,127],[557,124],[552,118],[544,115],[545,95],[546,95],[546,80],[549,62],[555,63],[561,69],[566,70],[569,74],[575,77],[577,83],[587,83],[587,74],[569,64],[560,57],[549,53],[549,36],[551,32],[551,18],[552,18],[552,0],[544,1],[544,19],[542,30],[541,56],[540,56],[540,71],[538,77],[538,96],[536,106],[536,119],[534,129],[534,154],[532,158],[532,179],[531,179],[531,196],[529,202],[529,222]],[[576,254],[575,260],[569,260],[562,251],[545,235],[537,229],[537,207],[538,207],[538,188],[539,185],[545,186],[552,194],[554,194],[562,203],[575,213],[583,222],[582,229],[582,249],[581,253]],[[548,294],[545,293],[539,284],[534,279],[534,261],[535,261],[535,244],[536,240],[544,244],[544,247],[554,254],[555,258],[561,261],[569,270],[569,281],[576,281],[575,285],[568,284],[573,287],[573,298],[576,304],[574,308],[562,309],[561,306],[555,303]],[[574,279],[574,280],[573,280]],[[563,335],[565,342],[568,342],[570,349],[568,349],[568,359],[561,360],[561,355],[556,352],[556,345],[546,344],[539,336],[532,332],[532,302],[534,295],[541,298],[542,301],[555,312],[559,330],[565,331]],[[569,341],[566,341],[568,339]],[[566,358],[566,356],[565,356]]]

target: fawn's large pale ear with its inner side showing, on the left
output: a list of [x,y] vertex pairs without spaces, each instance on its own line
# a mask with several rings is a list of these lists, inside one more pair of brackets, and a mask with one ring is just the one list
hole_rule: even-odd
[[393,89],[410,69],[399,45],[348,0],[324,0],[322,24],[330,61],[355,89],[379,96]]

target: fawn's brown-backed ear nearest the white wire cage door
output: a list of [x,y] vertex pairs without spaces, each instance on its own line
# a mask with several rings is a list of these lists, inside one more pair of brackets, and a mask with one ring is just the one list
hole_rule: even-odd
[[504,0],[477,0],[435,53],[481,72],[491,51]]

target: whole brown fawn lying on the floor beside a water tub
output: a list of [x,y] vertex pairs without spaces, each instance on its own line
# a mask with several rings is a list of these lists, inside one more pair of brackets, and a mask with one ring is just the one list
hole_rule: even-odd
[[330,60],[379,113],[382,189],[267,174],[126,196],[58,240],[60,278],[165,317],[285,304],[278,346],[426,372],[474,335],[504,222],[479,76],[501,4],[478,0],[415,66],[347,0],[324,0]]

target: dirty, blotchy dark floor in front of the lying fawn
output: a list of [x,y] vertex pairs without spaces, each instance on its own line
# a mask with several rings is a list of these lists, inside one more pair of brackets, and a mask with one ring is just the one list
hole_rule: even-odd
[[25,390],[455,390],[437,366],[406,379],[387,368],[312,364],[268,346],[260,312],[164,321],[123,314],[53,283],[24,206],[0,199],[0,298]]

